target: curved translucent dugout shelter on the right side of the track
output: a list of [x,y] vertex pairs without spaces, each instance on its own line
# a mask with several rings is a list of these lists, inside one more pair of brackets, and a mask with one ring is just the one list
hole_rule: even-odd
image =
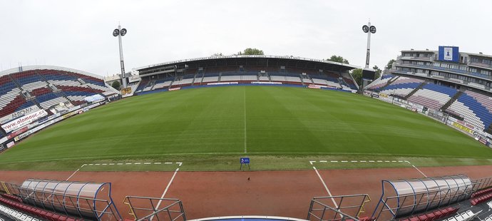
[[471,197],[466,175],[411,180],[382,180],[382,194],[372,216],[383,220],[419,214]]

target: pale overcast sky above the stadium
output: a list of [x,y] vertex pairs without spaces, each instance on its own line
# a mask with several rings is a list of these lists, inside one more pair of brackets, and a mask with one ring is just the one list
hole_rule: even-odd
[[0,0],[0,71],[26,65],[101,76],[125,68],[260,48],[268,55],[329,58],[364,66],[368,19],[371,67],[401,49],[492,54],[492,1],[6,1]]

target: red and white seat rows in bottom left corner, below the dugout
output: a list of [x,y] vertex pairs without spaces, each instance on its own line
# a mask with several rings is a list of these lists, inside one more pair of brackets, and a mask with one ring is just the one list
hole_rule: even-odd
[[[7,198],[0,198],[0,211],[6,213],[9,217],[16,217],[14,220],[29,220],[29,217],[38,217],[39,220],[50,220],[50,221],[81,221],[80,218],[70,217],[68,215],[58,214],[56,212],[51,212],[49,210],[43,210],[38,207],[33,207],[31,205],[26,205],[22,202],[16,200],[10,200]],[[5,206],[4,206],[5,205]],[[19,214],[21,212],[21,214]],[[13,215],[13,216],[11,216]],[[38,219],[31,219],[38,220]]]

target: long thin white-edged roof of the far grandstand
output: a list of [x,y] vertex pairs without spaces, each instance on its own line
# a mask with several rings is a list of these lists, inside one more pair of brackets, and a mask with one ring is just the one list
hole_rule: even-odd
[[192,63],[195,61],[213,61],[213,60],[235,59],[235,58],[275,58],[275,59],[285,59],[285,60],[294,60],[294,61],[307,61],[307,62],[314,62],[314,63],[337,66],[337,67],[341,68],[342,71],[348,71],[348,70],[352,70],[354,68],[361,68],[360,66],[354,66],[352,64],[347,64],[347,63],[339,63],[339,62],[326,61],[326,60],[314,59],[314,58],[302,58],[299,56],[296,57],[296,56],[269,56],[269,55],[232,55],[232,56],[210,56],[210,57],[202,57],[202,58],[190,58],[190,59],[183,59],[183,60],[178,60],[178,61],[155,63],[155,64],[151,64],[148,66],[135,68],[135,70],[143,71],[145,69],[151,69],[151,68],[158,67],[158,66],[169,66],[169,65],[174,65],[174,64],[178,64],[178,63]]

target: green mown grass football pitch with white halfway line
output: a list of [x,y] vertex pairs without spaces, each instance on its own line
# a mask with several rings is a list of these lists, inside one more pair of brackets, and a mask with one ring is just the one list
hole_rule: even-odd
[[302,169],[298,162],[312,158],[492,163],[492,150],[467,135],[371,98],[308,88],[227,86],[135,96],[76,115],[0,154],[0,169],[183,160],[190,170],[227,170],[242,155],[272,164],[263,169]]

